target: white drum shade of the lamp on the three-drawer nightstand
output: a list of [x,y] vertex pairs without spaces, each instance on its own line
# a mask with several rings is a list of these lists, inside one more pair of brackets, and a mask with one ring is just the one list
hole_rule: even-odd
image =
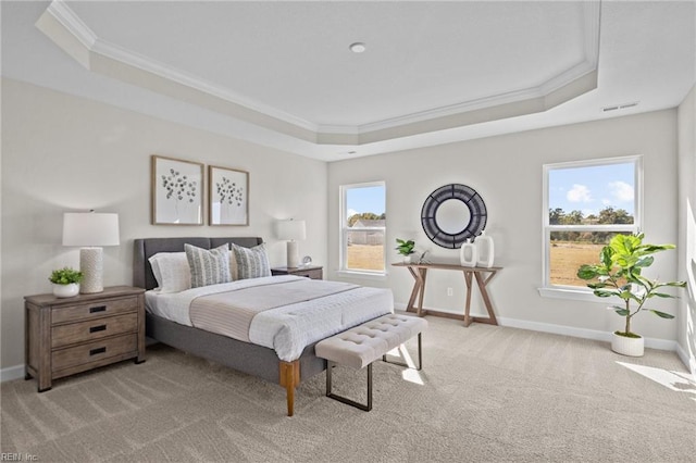
[[64,213],[63,246],[119,246],[119,214]]

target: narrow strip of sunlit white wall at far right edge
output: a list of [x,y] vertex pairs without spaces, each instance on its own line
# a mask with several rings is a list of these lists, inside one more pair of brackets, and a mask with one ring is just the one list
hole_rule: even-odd
[[679,278],[689,291],[680,300],[679,353],[696,375],[696,86],[679,107]]

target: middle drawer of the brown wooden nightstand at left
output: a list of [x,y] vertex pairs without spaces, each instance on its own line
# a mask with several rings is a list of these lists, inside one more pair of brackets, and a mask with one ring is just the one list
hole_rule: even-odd
[[124,333],[138,330],[138,314],[111,316],[108,318],[89,320],[71,325],[54,326],[51,329],[51,347],[58,348],[75,342],[91,341]]

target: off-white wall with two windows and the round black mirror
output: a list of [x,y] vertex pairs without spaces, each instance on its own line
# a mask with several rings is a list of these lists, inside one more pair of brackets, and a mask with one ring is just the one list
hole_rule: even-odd
[[[434,148],[360,158],[328,165],[328,263],[332,278],[346,279],[338,268],[338,188],[340,185],[385,180],[387,188],[388,262],[396,238],[411,238],[433,261],[457,262],[458,251],[433,245],[422,230],[420,212],[436,188],[459,183],[473,187],[488,211],[487,234],[495,239],[496,265],[504,267],[490,281],[489,293],[501,324],[593,337],[621,327],[621,318],[606,303],[542,298],[542,165],[607,157],[643,154],[645,167],[645,233],[651,242],[678,240],[676,111],[611,118],[539,129]],[[676,276],[676,252],[660,255],[651,267],[660,279]],[[408,302],[412,278],[403,268],[388,267],[385,280],[397,303]],[[457,272],[428,273],[424,306],[463,312],[463,278]],[[359,283],[365,283],[360,280]],[[447,287],[455,296],[447,297]],[[480,297],[473,300],[481,309]],[[674,313],[674,301],[661,308]],[[678,324],[650,314],[636,317],[634,328],[647,338],[674,347]],[[549,326],[555,325],[555,326]],[[559,329],[559,327],[566,327]],[[655,343],[654,343],[655,345]]]

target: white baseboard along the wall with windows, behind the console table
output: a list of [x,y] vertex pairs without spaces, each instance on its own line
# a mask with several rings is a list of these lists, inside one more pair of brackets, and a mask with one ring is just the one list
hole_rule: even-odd
[[[406,310],[405,303],[395,303],[395,309],[397,310]],[[439,311],[443,313],[455,313],[452,311]],[[472,314],[472,316],[488,316],[487,314]],[[540,323],[540,322],[529,322],[526,320],[517,320],[517,318],[507,318],[507,317],[497,317],[498,325],[500,326],[509,326],[511,328],[521,328],[529,329],[531,331],[542,331],[542,333],[550,333],[554,335],[563,335],[563,336],[572,336],[575,338],[583,339],[593,339],[596,341],[606,341],[611,342],[611,333],[607,331],[597,331],[595,329],[585,329],[585,328],[575,328],[572,326],[563,326],[563,325],[554,325],[550,323]],[[659,350],[669,350],[676,351],[678,343],[676,341],[669,339],[657,339],[657,338],[645,338],[645,347],[649,349],[659,349]],[[679,353],[680,359],[684,362],[684,365],[688,367],[688,361],[685,361],[685,353]]]

